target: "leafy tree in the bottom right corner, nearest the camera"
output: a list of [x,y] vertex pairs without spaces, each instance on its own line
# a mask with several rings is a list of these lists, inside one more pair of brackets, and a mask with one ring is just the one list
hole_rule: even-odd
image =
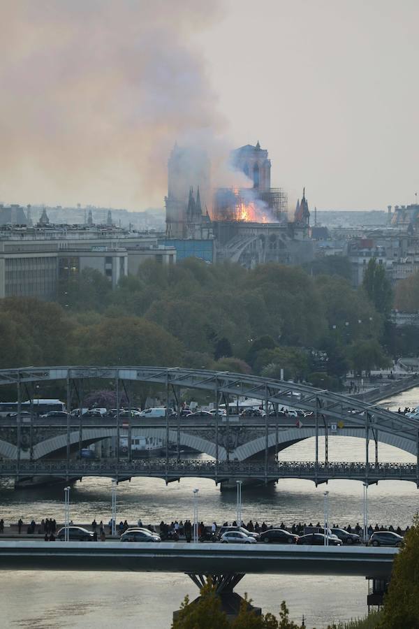
[[404,536],[404,546],[393,563],[388,593],[384,599],[380,629],[419,626],[419,516]]

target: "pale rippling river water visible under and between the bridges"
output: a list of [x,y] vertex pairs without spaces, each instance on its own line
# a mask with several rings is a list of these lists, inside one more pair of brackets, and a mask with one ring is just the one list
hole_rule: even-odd
[[[395,396],[385,406],[419,405],[419,388]],[[374,445],[371,444],[371,460]],[[319,453],[323,448],[319,447]],[[379,444],[380,461],[414,461],[404,451]],[[281,454],[284,460],[313,460],[314,439],[295,444]],[[363,440],[329,438],[330,461],[362,461]],[[74,522],[107,522],[110,518],[110,479],[86,479],[71,490],[71,518]],[[118,520],[145,523],[164,519],[192,519],[192,490],[199,489],[199,519],[205,523],[235,519],[235,493],[221,493],[214,482],[182,479],[166,486],[159,479],[133,479],[117,489]],[[286,524],[316,523],[323,519],[323,491],[313,483],[282,480],[263,489],[243,488],[243,519]],[[330,521],[344,526],[362,523],[362,484],[332,481],[328,484]],[[416,485],[385,481],[369,487],[369,521],[402,527],[411,524],[419,509]],[[22,517],[40,521],[64,516],[62,489],[40,488],[14,491],[13,484],[0,484],[0,514],[6,522]],[[367,612],[367,581],[361,577],[310,577],[247,575],[237,586],[249,593],[264,612],[279,613],[286,600],[295,621],[320,629],[332,621],[363,616]],[[61,629],[124,628],[166,629],[172,612],[184,595],[198,595],[198,589],[183,574],[98,572],[3,572],[0,588],[1,626],[13,628]]]

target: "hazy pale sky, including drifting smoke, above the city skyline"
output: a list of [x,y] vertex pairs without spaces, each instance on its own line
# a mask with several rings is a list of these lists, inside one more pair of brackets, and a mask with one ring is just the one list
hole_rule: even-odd
[[311,206],[419,191],[417,0],[0,0],[0,201],[162,205],[172,143],[260,140]]

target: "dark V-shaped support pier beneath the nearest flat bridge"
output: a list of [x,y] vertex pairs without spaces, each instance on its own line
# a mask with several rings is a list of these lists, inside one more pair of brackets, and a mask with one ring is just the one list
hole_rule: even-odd
[[[241,572],[226,572],[225,574],[196,574],[195,572],[186,572],[188,577],[193,583],[202,591],[202,588],[210,581],[214,587],[215,593],[219,596],[221,601],[221,609],[226,612],[228,620],[233,620],[240,612],[240,606],[242,600],[244,600],[240,594],[233,592],[235,586],[240,583],[244,574]],[[200,600],[200,596],[193,600],[189,605],[197,605]],[[253,607],[250,603],[247,603],[249,610],[253,611],[256,616],[262,614],[260,607]],[[173,612],[173,620],[175,621],[179,616],[180,610]]]

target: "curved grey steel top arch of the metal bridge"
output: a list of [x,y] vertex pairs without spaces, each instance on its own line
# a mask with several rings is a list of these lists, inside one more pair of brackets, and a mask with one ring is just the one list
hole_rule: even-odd
[[[318,426],[327,426],[350,419],[351,426],[364,428],[365,436],[378,435],[378,440],[399,444],[411,453],[418,453],[419,423],[402,414],[369,405],[358,399],[314,389],[304,384],[230,372],[214,372],[186,368],[160,368],[144,366],[83,367],[59,366],[0,370],[0,386],[86,379],[120,379],[146,384],[184,389],[201,389],[214,392],[214,400],[221,394],[230,401],[239,396],[256,398],[264,403],[298,407],[314,412]],[[302,434],[300,435],[302,438]],[[221,452],[219,453],[221,454]]]

